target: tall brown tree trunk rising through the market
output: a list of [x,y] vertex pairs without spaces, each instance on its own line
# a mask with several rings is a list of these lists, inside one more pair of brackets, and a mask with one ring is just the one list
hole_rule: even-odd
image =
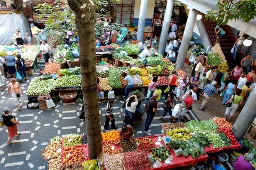
[[94,18],[97,6],[91,0],[68,0],[68,5],[75,12],[79,36],[79,62],[82,75],[89,158],[96,159],[102,151],[94,32]]

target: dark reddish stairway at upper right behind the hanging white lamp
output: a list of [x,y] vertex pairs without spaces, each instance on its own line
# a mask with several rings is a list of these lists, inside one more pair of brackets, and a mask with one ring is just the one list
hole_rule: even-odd
[[[212,46],[214,46],[214,43],[216,41],[215,33],[214,33],[214,27],[217,25],[216,23],[213,23],[211,21],[207,21],[205,18],[203,18],[204,26],[206,29],[207,34],[210,37]],[[234,43],[236,42],[236,37],[231,30],[231,28],[226,26],[221,26],[221,28],[226,32],[226,35],[224,37],[220,38],[220,46],[223,54],[225,55],[225,58],[227,60],[229,68],[233,69],[236,67],[238,63],[241,62],[241,60],[244,58],[244,54],[242,53],[241,49],[237,52],[236,59],[233,59],[232,54],[230,53],[231,48],[233,47]]]

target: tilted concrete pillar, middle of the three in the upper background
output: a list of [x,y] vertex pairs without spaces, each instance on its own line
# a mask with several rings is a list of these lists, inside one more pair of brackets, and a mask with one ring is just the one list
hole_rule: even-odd
[[172,10],[173,10],[174,0],[167,0],[167,5],[164,13],[164,22],[161,31],[159,46],[158,46],[158,53],[164,55],[165,51],[165,44],[167,41],[168,31],[170,27],[170,21],[172,18]]

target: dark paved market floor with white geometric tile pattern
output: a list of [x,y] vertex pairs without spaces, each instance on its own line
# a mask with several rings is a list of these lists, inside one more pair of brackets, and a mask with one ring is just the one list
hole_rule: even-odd
[[[33,76],[29,76],[29,79],[25,83],[20,83],[22,88],[22,111],[19,111],[12,101],[11,95],[6,95],[7,84],[4,86],[4,91],[1,92],[0,110],[3,107],[8,106],[11,109],[11,113],[21,123],[18,125],[18,131],[21,132],[19,137],[13,139],[13,144],[9,145],[7,141],[8,134],[6,127],[0,128],[0,166],[3,170],[13,169],[47,169],[47,163],[42,158],[41,152],[43,148],[49,144],[51,138],[56,135],[67,134],[84,134],[86,132],[85,122],[78,119],[80,110],[82,108],[81,101],[76,103],[65,104],[60,101],[55,102],[56,107],[52,110],[40,110],[40,109],[27,109],[27,95],[26,90],[31,81],[31,78],[39,76],[39,69],[44,69],[44,62],[39,63],[37,70]],[[57,93],[58,94],[58,93]],[[215,99],[216,98],[216,99]],[[200,111],[199,105],[202,101],[202,96],[199,102],[193,104],[193,112],[188,115],[191,119],[204,120],[212,118],[214,116],[223,116],[225,107],[221,104],[221,97],[216,95],[211,102],[207,103],[205,111]],[[147,100],[144,100],[142,104],[145,104]],[[163,104],[164,99],[161,99]],[[121,127],[124,119],[124,108],[122,108],[123,98],[121,95],[116,98],[116,105],[114,106],[114,117],[116,120],[116,126]],[[161,134],[161,124],[164,122],[170,122],[168,119],[157,120],[157,117],[162,114],[162,104],[159,106],[156,112],[156,116],[151,124],[152,135]],[[104,110],[106,102],[99,104],[100,125],[102,132],[105,132],[103,125],[105,123]],[[215,108],[218,108],[216,110]],[[236,112],[236,116],[232,119],[236,119],[239,112]],[[144,114],[139,122],[136,122],[133,126],[134,137],[146,136],[143,133],[143,127],[145,125],[146,114]],[[255,143],[255,141],[253,141]]]

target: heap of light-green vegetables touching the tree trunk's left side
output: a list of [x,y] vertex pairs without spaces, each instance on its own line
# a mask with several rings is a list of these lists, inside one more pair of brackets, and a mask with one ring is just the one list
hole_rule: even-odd
[[81,78],[77,75],[65,75],[57,78],[56,87],[71,87],[71,86],[80,86]]

